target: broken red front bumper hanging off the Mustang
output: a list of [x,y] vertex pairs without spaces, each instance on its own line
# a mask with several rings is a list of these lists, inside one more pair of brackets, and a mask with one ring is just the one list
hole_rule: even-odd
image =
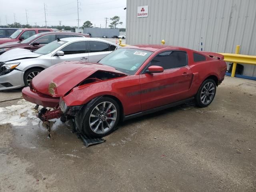
[[60,101],[59,97],[53,98],[52,96],[31,90],[30,87],[25,87],[22,89],[22,96],[29,102],[50,108],[55,108]]

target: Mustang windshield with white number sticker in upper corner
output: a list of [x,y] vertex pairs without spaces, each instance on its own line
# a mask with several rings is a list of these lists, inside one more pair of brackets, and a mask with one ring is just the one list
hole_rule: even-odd
[[151,51],[140,49],[120,48],[102,58],[99,63],[112,66],[118,71],[134,75],[152,53]]

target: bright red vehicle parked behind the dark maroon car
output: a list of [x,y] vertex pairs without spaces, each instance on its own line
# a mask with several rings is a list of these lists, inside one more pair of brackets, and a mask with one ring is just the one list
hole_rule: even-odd
[[52,29],[44,29],[44,28],[24,28],[16,30],[10,37],[8,38],[0,38],[0,44],[14,42],[14,41],[22,41],[25,40],[34,34],[42,33],[42,32],[50,32]]

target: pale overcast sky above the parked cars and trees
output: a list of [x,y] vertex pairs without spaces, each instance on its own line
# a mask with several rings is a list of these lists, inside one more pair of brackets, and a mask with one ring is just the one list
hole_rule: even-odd
[[[0,23],[16,22],[26,24],[26,10],[28,15],[28,24],[45,26],[44,4],[46,5],[47,26],[61,25],[77,26],[77,0],[0,0]],[[126,26],[126,0],[78,0],[79,26],[82,26],[86,20],[92,22],[93,26],[106,27],[106,19],[113,16],[120,16],[122,25]],[[110,24],[108,19],[107,27]]]

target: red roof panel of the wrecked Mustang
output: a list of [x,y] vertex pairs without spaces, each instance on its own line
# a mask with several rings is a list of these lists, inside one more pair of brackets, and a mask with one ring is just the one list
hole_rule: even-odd
[[124,48],[133,48],[133,49],[141,49],[141,50],[146,50],[146,51],[152,51],[155,52],[157,50],[160,49],[164,49],[164,48],[171,48],[173,50],[189,50],[188,48],[183,48],[183,47],[179,47],[179,46],[171,46],[171,45],[158,45],[158,44],[148,44],[148,45],[129,45],[129,46],[125,46]]

